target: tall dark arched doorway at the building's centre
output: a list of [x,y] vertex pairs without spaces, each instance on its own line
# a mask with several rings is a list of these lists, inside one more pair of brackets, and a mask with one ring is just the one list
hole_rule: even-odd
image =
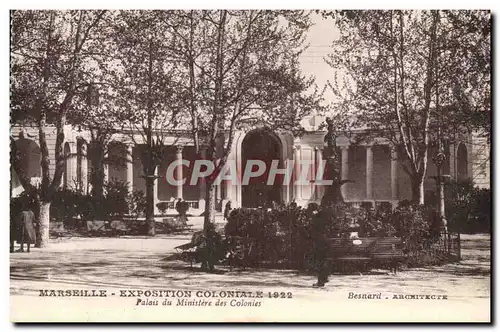
[[[271,202],[281,201],[281,192],[283,186],[283,176],[276,176],[274,183],[268,185],[269,170],[273,160],[278,160],[278,167],[283,168],[281,160],[281,142],[278,136],[273,132],[265,129],[254,130],[249,132],[242,142],[242,169],[241,177],[246,169],[249,160],[263,161],[266,168],[262,175],[249,179],[247,185],[242,184],[241,196],[242,206],[244,207],[259,207],[266,206]],[[253,171],[257,170],[257,166],[252,167]]]

